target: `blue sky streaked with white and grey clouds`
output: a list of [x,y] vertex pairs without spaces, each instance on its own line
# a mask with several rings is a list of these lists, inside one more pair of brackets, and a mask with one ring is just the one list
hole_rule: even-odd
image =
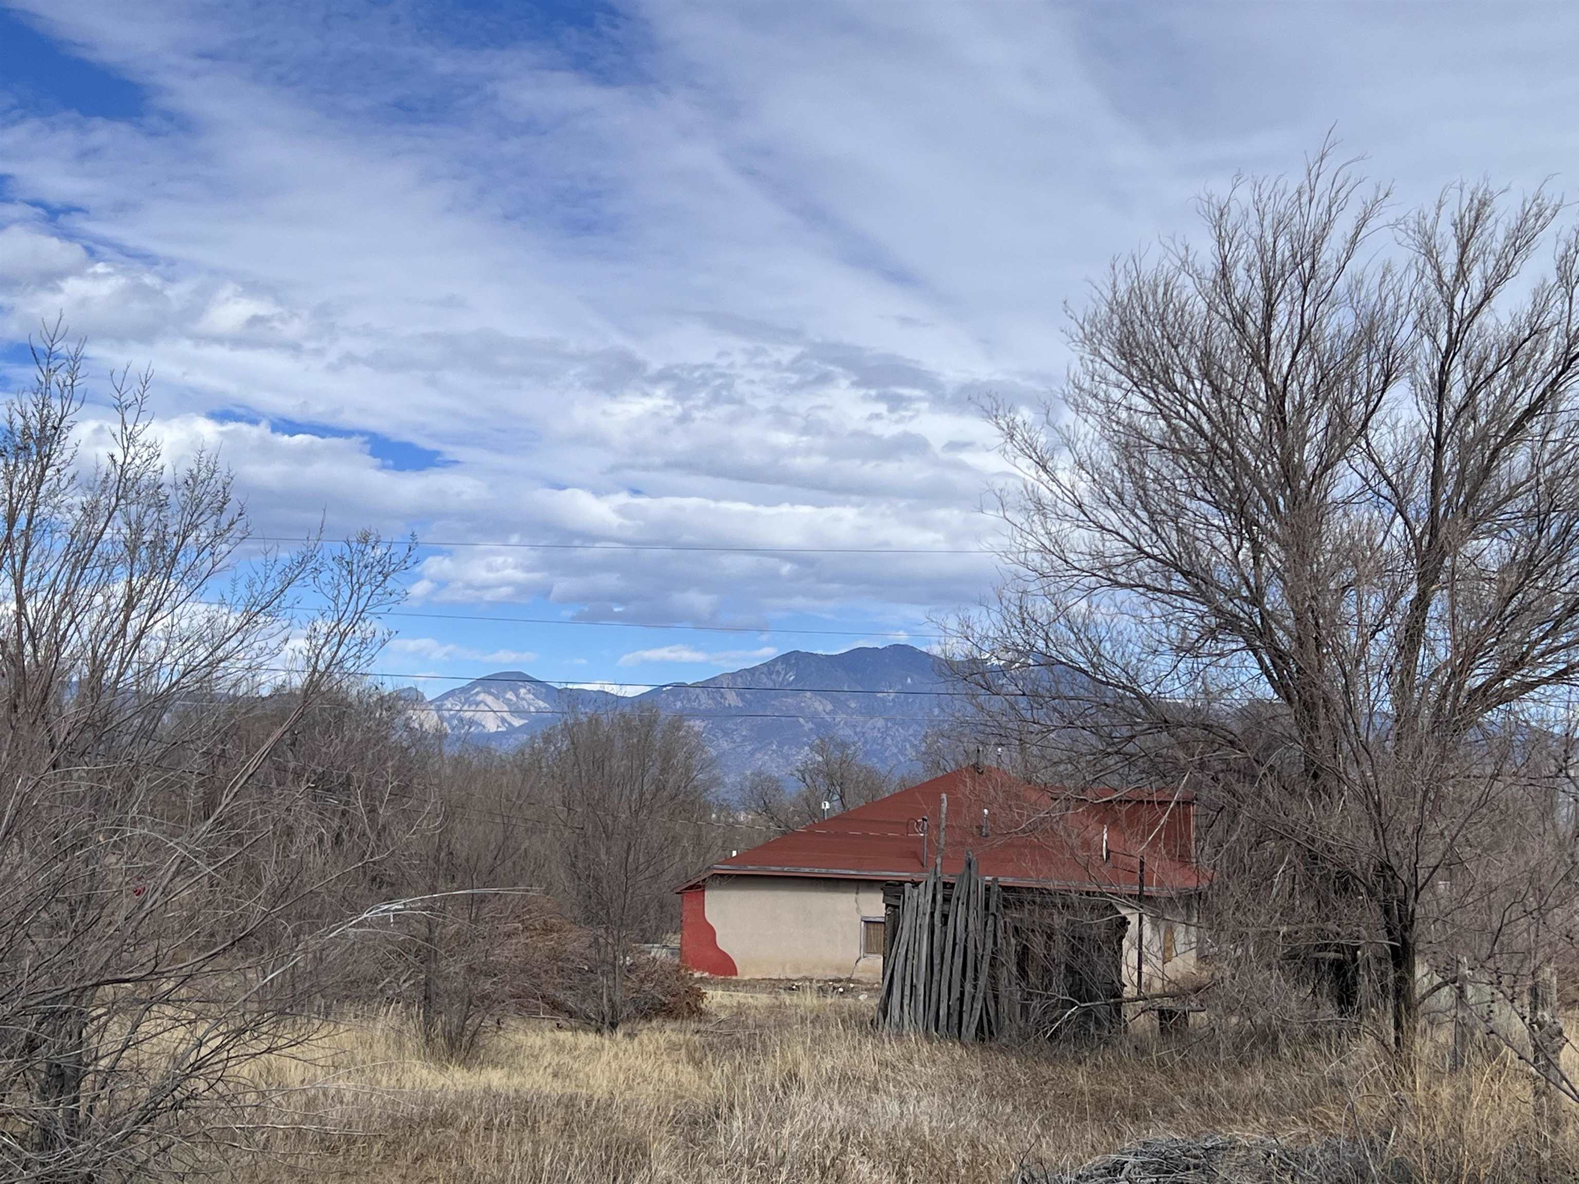
[[216,447],[261,535],[414,530],[388,671],[924,643],[993,581],[977,406],[1056,388],[1086,278],[1330,128],[1404,199],[1579,193],[1576,33],[1558,5],[0,0],[0,368],[63,313],[98,374],[153,366],[171,455]]

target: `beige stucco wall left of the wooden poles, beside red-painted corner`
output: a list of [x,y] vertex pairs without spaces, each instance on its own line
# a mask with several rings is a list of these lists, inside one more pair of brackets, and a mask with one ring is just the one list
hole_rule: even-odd
[[718,949],[741,977],[883,977],[883,958],[861,955],[861,920],[883,919],[881,884],[712,876],[703,890],[703,911]]

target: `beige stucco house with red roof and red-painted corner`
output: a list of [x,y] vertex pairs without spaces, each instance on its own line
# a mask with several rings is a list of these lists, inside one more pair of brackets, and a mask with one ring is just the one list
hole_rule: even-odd
[[[944,879],[973,851],[981,875],[1015,901],[1017,969],[1031,991],[1067,977],[1047,960],[1067,960],[1075,944],[1134,998],[1195,969],[1208,876],[1194,829],[1189,792],[1036,786],[1001,769],[955,769],[684,884],[681,961],[722,977],[878,982],[898,894],[927,876],[941,840]],[[1033,920],[1044,916],[1058,920]]]

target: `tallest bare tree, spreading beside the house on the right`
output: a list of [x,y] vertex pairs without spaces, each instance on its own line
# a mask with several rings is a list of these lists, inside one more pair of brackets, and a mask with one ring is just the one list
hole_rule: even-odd
[[1055,403],[992,412],[1022,481],[958,638],[987,715],[1047,767],[1222,805],[1274,852],[1266,925],[1385,949],[1404,1056],[1423,957],[1538,960],[1571,900],[1562,845],[1521,840],[1560,821],[1530,737],[1579,679],[1562,210],[1399,210],[1328,152],[1243,180],[1198,245],[1113,264]]

